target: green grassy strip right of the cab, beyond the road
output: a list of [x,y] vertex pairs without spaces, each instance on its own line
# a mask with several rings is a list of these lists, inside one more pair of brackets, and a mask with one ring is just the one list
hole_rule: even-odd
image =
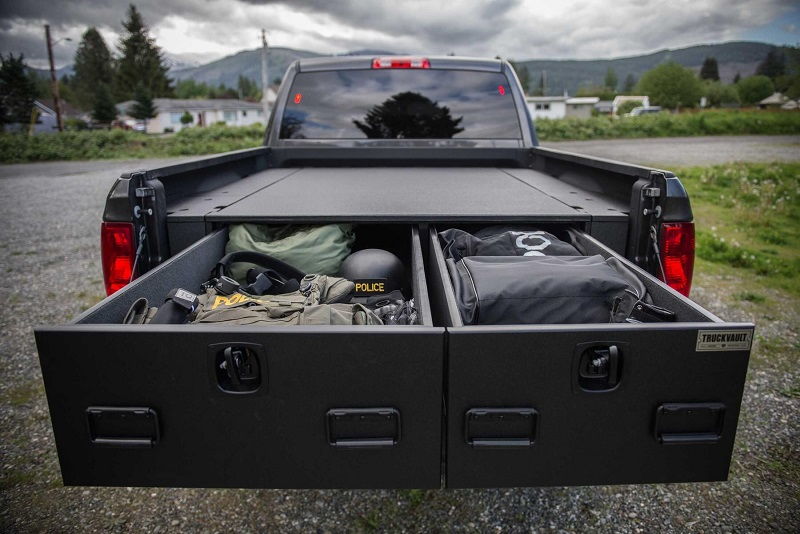
[[800,113],[709,110],[641,117],[539,119],[536,121],[536,133],[540,141],[800,134]]

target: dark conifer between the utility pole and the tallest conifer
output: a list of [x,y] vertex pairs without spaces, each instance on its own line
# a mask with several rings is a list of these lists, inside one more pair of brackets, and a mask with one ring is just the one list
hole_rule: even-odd
[[103,36],[94,27],[87,29],[75,52],[75,74],[71,83],[78,107],[94,109],[101,87],[108,89],[113,81],[113,74],[111,52],[108,51]]

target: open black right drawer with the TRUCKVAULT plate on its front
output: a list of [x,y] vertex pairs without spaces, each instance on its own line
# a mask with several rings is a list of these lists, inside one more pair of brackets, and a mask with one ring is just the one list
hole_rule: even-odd
[[[448,487],[727,479],[753,325],[723,322],[569,235],[623,261],[677,322],[463,326],[430,229],[431,302],[448,327]],[[593,350],[614,352],[613,380],[582,373]]]

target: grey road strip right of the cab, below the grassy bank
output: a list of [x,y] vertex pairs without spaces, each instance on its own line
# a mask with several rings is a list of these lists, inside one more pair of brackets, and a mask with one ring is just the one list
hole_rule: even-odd
[[543,142],[542,146],[657,167],[800,161],[800,135],[604,139]]

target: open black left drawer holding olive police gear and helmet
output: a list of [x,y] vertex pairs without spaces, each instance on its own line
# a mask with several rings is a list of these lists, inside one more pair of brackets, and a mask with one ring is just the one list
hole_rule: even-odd
[[[371,235],[407,260],[421,325],[119,324],[139,297],[157,305],[175,287],[198,291],[224,253],[223,229],[73,323],[37,328],[64,483],[439,487],[444,329],[432,326],[419,233]],[[219,387],[228,347],[255,355],[254,391]]]

